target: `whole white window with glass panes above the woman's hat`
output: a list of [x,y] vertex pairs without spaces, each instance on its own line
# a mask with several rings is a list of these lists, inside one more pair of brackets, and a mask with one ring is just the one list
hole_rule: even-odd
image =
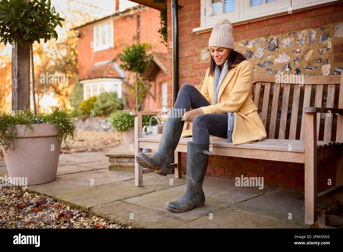
[[193,32],[211,30],[221,19],[232,24],[247,20],[262,20],[265,16],[300,11],[334,0],[200,0],[200,27]]

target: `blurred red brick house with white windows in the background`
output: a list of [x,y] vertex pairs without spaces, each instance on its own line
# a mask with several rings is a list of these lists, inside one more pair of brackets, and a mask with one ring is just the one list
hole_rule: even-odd
[[84,100],[117,91],[127,108],[135,108],[135,90],[129,87],[133,84],[132,78],[119,67],[120,60],[112,60],[125,46],[138,44],[139,29],[139,43],[150,44],[151,50],[147,53],[154,56],[153,64],[141,75],[145,83],[151,84],[150,94],[144,98],[141,109],[167,107],[167,47],[161,43],[158,33],[159,15],[158,10],[143,5],[119,11],[119,0],[116,0],[113,15],[74,28],[78,31],[79,80],[84,87]]

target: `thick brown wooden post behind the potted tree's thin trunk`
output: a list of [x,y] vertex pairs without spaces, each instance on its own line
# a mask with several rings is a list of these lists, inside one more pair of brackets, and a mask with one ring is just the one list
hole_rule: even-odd
[[30,108],[30,48],[12,48],[12,110]]

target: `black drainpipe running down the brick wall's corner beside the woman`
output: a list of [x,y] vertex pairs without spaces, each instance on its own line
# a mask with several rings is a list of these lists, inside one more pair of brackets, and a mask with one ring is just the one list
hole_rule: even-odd
[[[177,0],[171,0],[171,23],[173,27],[173,104],[176,102],[177,94],[179,93],[179,17],[178,9],[184,5],[178,5]],[[171,163],[174,163],[174,154],[171,157]],[[181,167],[179,167],[181,169]],[[174,173],[174,168],[170,169]]]

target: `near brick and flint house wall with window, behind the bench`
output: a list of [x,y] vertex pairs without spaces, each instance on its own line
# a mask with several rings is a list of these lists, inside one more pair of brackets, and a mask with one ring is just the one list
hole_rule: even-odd
[[[151,7],[154,5],[154,0],[136,0],[136,2]],[[185,83],[202,85],[206,70],[210,66],[208,39],[212,27],[220,19],[230,20],[233,25],[235,50],[243,53],[253,63],[256,73],[341,74],[343,71],[343,4],[341,2],[179,0],[177,4],[183,5],[182,8],[178,8],[179,87]],[[171,0],[167,0],[167,17],[168,43],[170,43],[172,41]],[[173,49],[168,48],[168,108],[172,105],[172,58]],[[253,88],[252,93],[254,91]],[[335,93],[338,95],[338,90]],[[327,86],[324,86],[324,104],[326,104],[326,94]],[[270,96],[272,95],[271,86]],[[282,99],[281,92],[280,95]],[[301,100],[299,118],[302,115],[302,102]],[[312,102],[311,99],[311,106],[314,105]],[[289,107],[289,111],[291,109]],[[261,110],[260,107],[259,112]],[[279,109],[278,118],[280,113]],[[325,115],[322,114],[322,118],[323,116]],[[335,117],[337,119],[336,115]],[[322,119],[321,123],[323,121]],[[335,118],[333,121],[335,125]],[[267,136],[268,127],[269,121],[266,122]],[[334,137],[333,135],[332,139]],[[187,153],[182,153],[183,170],[187,169],[186,161]],[[214,155],[209,158],[206,176],[230,180],[241,175],[259,176],[264,177],[265,185],[304,191],[304,164],[291,161]],[[322,160],[318,163],[318,192],[328,189],[328,178],[335,178],[335,164],[331,162]],[[332,181],[333,185],[334,183],[335,181]]]

